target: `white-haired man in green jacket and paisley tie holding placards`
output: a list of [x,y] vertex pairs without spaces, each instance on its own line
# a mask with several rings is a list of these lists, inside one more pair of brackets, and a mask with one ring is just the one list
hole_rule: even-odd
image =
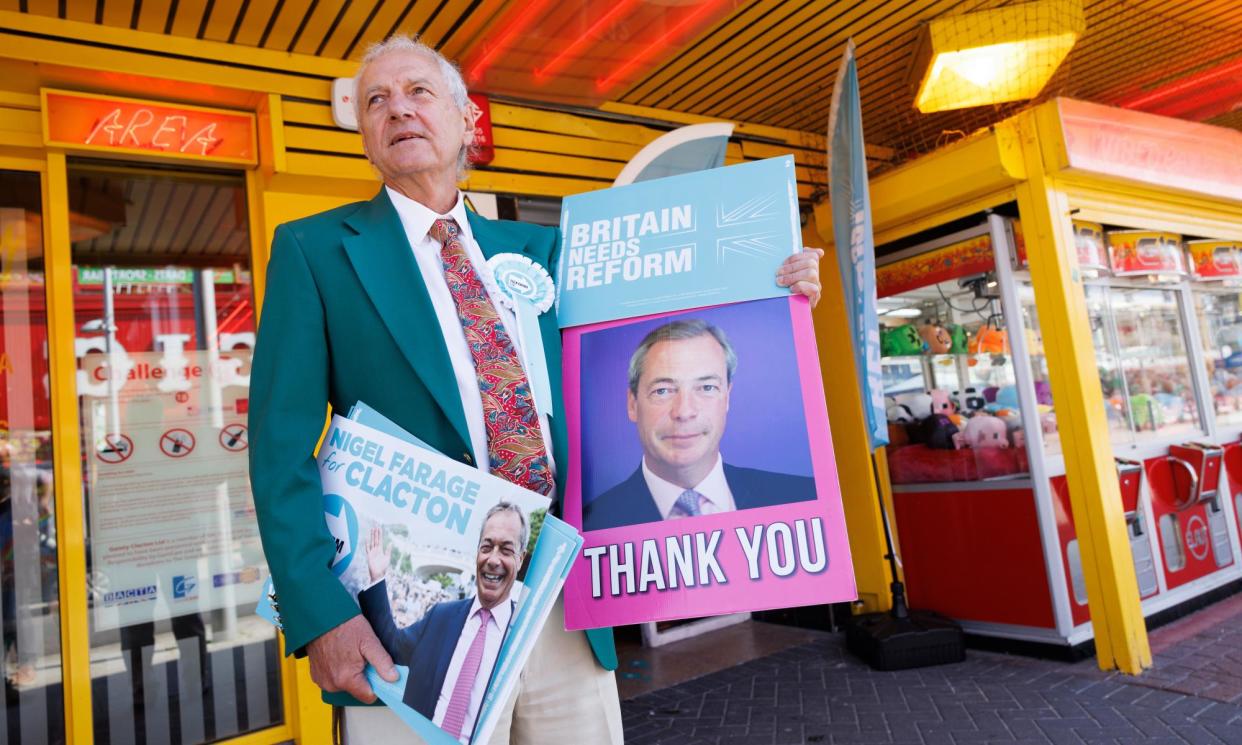
[[[369,50],[355,106],[384,185],[370,201],[277,228],[250,417],[255,505],[287,648],[309,656],[337,704],[374,702],[368,662],[385,679],[396,673],[328,569],[334,543],[312,457],[325,404],[365,401],[440,452],[543,494],[560,490],[556,464],[568,462],[564,421],[537,410],[515,322],[484,289],[497,253],[554,271],[558,231],[467,212],[457,190],[473,134],[466,87],[430,47],[399,36]],[[777,282],[816,299],[818,253],[787,260]],[[540,328],[559,397],[553,313]],[[566,632],[554,608],[494,740],[620,743],[615,667],[611,631]],[[411,739],[384,709],[351,708],[344,725],[354,743]]]

